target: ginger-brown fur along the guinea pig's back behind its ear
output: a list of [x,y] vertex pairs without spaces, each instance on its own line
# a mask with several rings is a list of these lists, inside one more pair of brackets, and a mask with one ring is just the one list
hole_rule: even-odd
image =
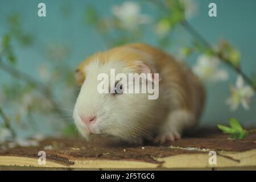
[[160,86],[162,82],[164,100],[176,99],[172,98],[171,95],[174,95],[172,94],[174,92],[179,92],[181,97],[177,107],[192,111],[195,114],[195,120],[198,121],[204,107],[205,90],[200,79],[192,73],[191,69],[182,61],[175,60],[172,55],[147,44],[129,44],[127,47],[137,49],[152,57],[152,61],[155,64],[155,72],[159,73],[162,78]]

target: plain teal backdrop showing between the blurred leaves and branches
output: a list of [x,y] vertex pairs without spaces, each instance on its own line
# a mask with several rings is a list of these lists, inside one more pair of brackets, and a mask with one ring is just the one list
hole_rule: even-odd
[[[44,2],[47,7],[47,16],[38,17],[38,3]],[[106,49],[101,37],[92,27],[85,26],[82,21],[84,18],[85,7],[94,5],[103,15],[111,13],[111,7],[121,4],[123,1],[104,0],[104,1],[37,1],[37,0],[0,0],[0,37],[7,31],[5,27],[5,17],[7,14],[17,12],[22,19],[22,26],[25,30],[33,32],[40,43],[57,42],[68,44],[72,48],[69,57],[70,66],[75,70],[81,60],[92,53]],[[220,0],[196,1],[199,5],[199,12],[188,21],[198,30],[209,42],[216,44],[219,38],[229,40],[234,47],[239,49],[242,54],[242,68],[250,75],[256,72],[256,1],[234,1]],[[208,5],[210,2],[217,4],[217,17],[208,16]],[[142,8],[142,13],[151,16],[156,15],[154,6],[146,5]],[[64,18],[60,13],[61,7],[70,6],[71,14]],[[180,29],[179,29],[180,30]],[[189,39],[189,35],[180,30],[182,39]],[[157,45],[156,40],[151,35],[151,31],[146,31],[143,41],[152,45]],[[180,34],[180,33],[179,33]],[[177,35],[178,36],[178,35]],[[180,36],[180,35],[179,35]],[[39,43],[39,44],[40,44]],[[186,44],[179,43],[186,46]],[[15,45],[14,45],[15,46]],[[33,48],[15,48],[15,55],[18,57],[18,68],[27,72],[31,76],[36,75],[36,67],[43,62],[47,62],[45,57],[38,51],[40,46]],[[167,49],[168,52],[175,53],[175,46]],[[188,61],[189,65],[195,63],[196,56],[192,56]],[[225,65],[224,65],[224,68]],[[256,98],[250,104],[250,110],[246,111],[239,107],[235,112],[229,110],[225,104],[225,99],[229,97],[229,85],[236,81],[236,73],[229,71],[230,79],[228,82],[218,82],[216,84],[206,84],[208,99],[207,106],[201,121],[201,125],[216,125],[216,123],[226,123],[229,118],[236,117],[245,126],[255,126]],[[10,81],[10,77],[0,70],[0,84]],[[56,97],[59,97],[56,95]],[[72,105],[64,106],[71,109]]]

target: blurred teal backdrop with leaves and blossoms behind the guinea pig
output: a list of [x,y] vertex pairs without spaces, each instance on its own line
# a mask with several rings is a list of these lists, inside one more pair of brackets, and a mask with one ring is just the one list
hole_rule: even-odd
[[[38,16],[41,2],[46,17]],[[208,15],[211,2],[217,17]],[[207,53],[197,46],[203,37],[216,49],[232,50],[233,62],[251,76],[256,71],[255,7],[255,0],[0,0],[0,106],[8,127],[20,138],[73,135],[77,65],[96,51],[125,43],[160,47],[194,67]],[[200,34],[196,39],[193,30]],[[255,126],[255,97],[249,110],[230,110],[226,100],[237,73],[223,63],[218,67],[225,70],[225,79],[205,81],[208,97],[200,125],[215,127],[234,117],[243,126]],[[6,127],[3,120],[0,127]]]

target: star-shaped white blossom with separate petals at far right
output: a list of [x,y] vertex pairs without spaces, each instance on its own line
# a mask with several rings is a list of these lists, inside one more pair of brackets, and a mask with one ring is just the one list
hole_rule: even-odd
[[251,86],[243,84],[241,75],[237,77],[236,86],[231,86],[230,93],[231,96],[226,100],[226,103],[230,105],[231,110],[236,110],[240,104],[243,109],[249,109],[249,103],[254,95],[254,90]]

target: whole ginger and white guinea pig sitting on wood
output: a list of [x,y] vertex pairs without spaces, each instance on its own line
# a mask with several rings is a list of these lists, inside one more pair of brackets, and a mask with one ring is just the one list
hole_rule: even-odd
[[[116,93],[117,84],[105,82],[114,92],[99,93],[98,75],[115,73],[158,73],[157,99],[150,93]],[[91,134],[108,135],[142,144],[146,140],[165,143],[181,138],[184,130],[199,122],[205,91],[199,78],[187,66],[158,48],[143,43],[127,44],[97,52],[76,70],[80,93],[73,109],[77,130],[86,139]],[[139,84],[142,84],[140,81]]]

